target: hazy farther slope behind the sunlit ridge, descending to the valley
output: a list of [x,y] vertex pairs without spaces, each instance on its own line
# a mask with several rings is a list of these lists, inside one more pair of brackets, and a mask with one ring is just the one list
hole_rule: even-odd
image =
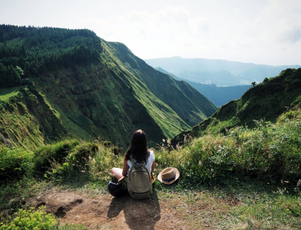
[[215,112],[215,105],[191,85],[154,70],[135,56],[124,44],[117,42],[102,42],[102,44],[109,44],[110,50],[116,49],[119,61],[121,61],[119,63],[189,125],[195,125],[198,120],[205,119]]

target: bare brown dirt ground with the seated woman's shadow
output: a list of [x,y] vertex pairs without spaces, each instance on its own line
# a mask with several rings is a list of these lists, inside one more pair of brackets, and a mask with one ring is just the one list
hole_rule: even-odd
[[[201,215],[196,216],[200,210],[212,209],[210,205],[195,202],[189,207],[183,206],[181,199],[158,199],[156,191],[146,200],[110,194],[47,191],[32,197],[27,204],[45,205],[47,211],[61,217],[61,223],[80,223],[89,229],[216,229],[206,224]],[[189,215],[191,219],[187,218]]]

